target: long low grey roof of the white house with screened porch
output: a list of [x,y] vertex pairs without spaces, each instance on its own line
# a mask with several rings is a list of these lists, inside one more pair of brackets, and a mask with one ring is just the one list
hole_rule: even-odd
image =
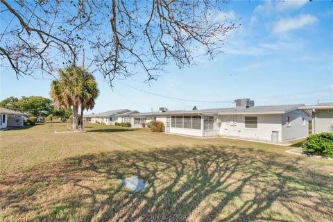
[[204,109],[204,110],[175,110],[166,112],[140,112],[137,114],[132,114],[130,116],[141,117],[141,116],[167,116],[173,114],[284,114],[293,110],[297,110],[302,107],[303,104],[291,104],[291,105],[262,105],[253,106],[250,108],[239,107],[239,108],[214,108],[214,109]]

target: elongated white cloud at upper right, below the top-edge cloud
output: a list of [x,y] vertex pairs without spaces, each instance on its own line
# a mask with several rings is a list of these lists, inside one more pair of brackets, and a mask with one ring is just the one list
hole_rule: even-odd
[[289,30],[294,30],[298,28],[302,28],[303,26],[307,26],[309,24],[313,24],[317,22],[318,19],[313,15],[300,15],[295,18],[289,19],[280,19],[274,26],[274,33],[285,33]]

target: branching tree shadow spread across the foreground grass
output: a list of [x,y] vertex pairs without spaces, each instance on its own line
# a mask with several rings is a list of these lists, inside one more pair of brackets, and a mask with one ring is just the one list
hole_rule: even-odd
[[[1,205],[35,221],[329,221],[332,176],[298,160],[233,146],[83,155],[3,177]],[[131,192],[130,176],[149,186]]]

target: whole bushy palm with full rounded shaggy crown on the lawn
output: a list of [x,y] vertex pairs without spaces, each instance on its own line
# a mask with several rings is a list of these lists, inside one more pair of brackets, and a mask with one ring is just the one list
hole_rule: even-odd
[[[78,130],[78,108],[90,109],[99,94],[94,76],[82,67],[69,66],[59,71],[51,83],[51,98],[56,108],[72,108],[72,130]],[[81,121],[82,122],[82,121]]]

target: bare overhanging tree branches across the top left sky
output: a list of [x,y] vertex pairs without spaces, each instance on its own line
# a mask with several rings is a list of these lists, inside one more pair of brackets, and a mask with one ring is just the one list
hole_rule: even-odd
[[1,0],[1,62],[17,76],[53,74],[77,65],[87,49],[86,67],[110,82],[138,67],[153,80],[169,62],[182,68],[221,51],[223,37],[239,26],[223,14],[227,2]]

